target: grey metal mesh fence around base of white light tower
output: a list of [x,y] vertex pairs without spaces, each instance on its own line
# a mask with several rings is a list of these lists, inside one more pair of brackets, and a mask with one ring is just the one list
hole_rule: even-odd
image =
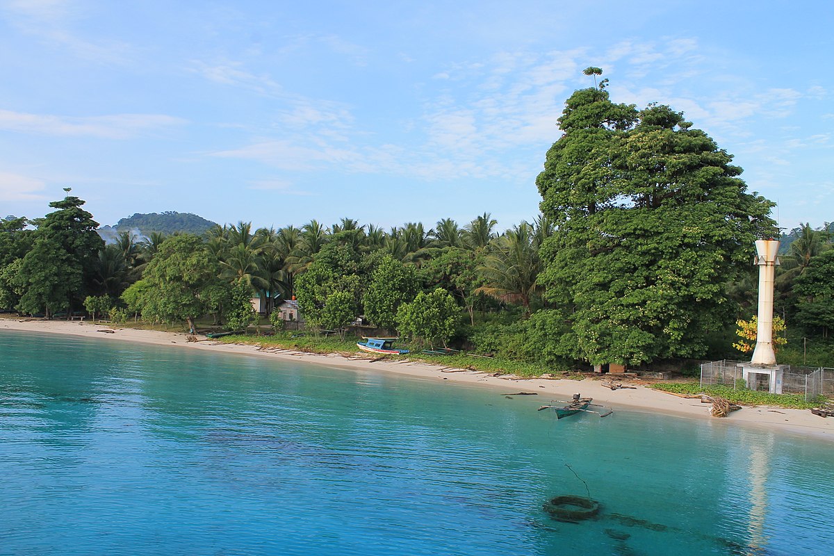
[[[742,365],[746,361],[711,361],[701,364],[701,386],[721,384],[736,388],[751,388],[753,390],[767,390],[766,380],[753,381],[746,384],[743,378]],[[763,376],[763,375],[757,375]],[[782,373],[782,393],[802,394],[810,401],[818,396],[834,396],[834,368],[829,367],[791,367],[787,365]]]

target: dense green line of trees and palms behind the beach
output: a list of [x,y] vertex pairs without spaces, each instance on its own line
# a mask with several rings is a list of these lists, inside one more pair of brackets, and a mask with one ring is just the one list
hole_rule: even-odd
[[[751,255],[756,238],[779,237],[772,203],[749,193],[731,155],[682,113],[613,103],[606,85],[566,100],[530,223],[498,233],[490,213],[388,230],[351,218],[277,229],[239,222],[143,241],[120,233],[105,246],[83,201],[68,196],[43,219],[3,220],[0,307],[86,307],[192,329],[208,316],[241,329],[257,320],[252,296],[267,312],[294,296],[314,328],[362,316],[423,343],[550,368],[714,353],[755,312]],[[826,337],[827,225],[803,225],[781,261],[777,312]]]

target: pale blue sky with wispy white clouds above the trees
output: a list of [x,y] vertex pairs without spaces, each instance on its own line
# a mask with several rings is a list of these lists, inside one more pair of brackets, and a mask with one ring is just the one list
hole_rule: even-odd
[[0,218],[499,228],[539,212],[565,99],[668,104],[834,220],[834,3],[0,0]]

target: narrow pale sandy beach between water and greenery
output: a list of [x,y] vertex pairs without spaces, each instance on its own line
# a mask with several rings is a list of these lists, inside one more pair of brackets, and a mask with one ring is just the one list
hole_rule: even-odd
[[[709,419],[715,423],[728,426],[741,424],[755,428],[778,431],[780,433],[800,434],[829,442],[834,442],[834,419],[821,418],[807,409],[788,409],[745,407],[731,413],[726,418],[714,418],[709,413],[710,404],[698,399],[678,398],[646,386],[632,384],[636,389],[610,390],[600,380],[585,378],[582,381],[567,378],[514,378],[512,375],[493,377],[488,373],[468,370],[455,370],[445,366],[423,362],[371,361],[368,358],[347,358],[338,354],[321,355],[316,353],[294,352],[290,350],[262,350],[258,346],[240,343],[214,343],[211,341],[187,342],[186,333],[159,332],[136,328],[118,328],[108,324],[78,323],[74,321],[42,321],[29,319],[0,319],[0,331],[54,333],[94,338],[103,341],[121,341],[149,343],[154,345],[174,345],[180,348],[193,348],[215,353],[232,353],[273,359],[284,359],[305,363],[316,363],[334,368],[371,373],[394,373],[427,380],[449,383],[470,384],[489,387],[504,393],[529,392],[545,394],[568,399],[579,391],[585,397],[594,398],[595,402],[609,405],[614,409],[644,413],[664,413],[686,418]],[[102,333],[111,330],[113,333]],[[544,399],[545,398],[541,398]]]

